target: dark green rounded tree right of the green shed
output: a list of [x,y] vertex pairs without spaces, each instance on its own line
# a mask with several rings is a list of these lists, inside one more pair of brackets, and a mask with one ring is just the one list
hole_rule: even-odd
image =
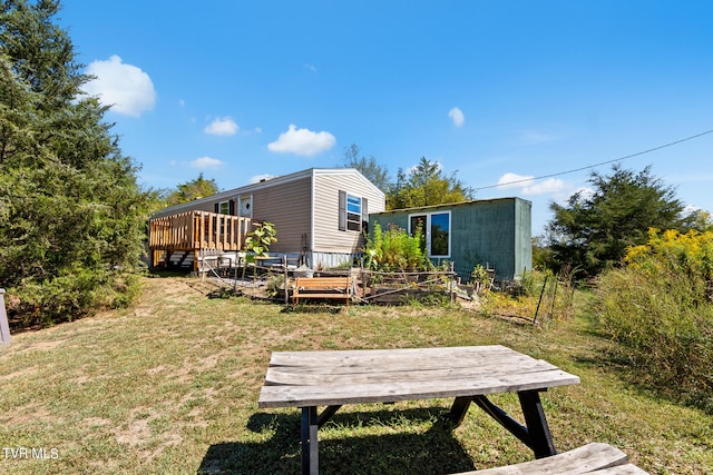
[[649,228],[686,229],[691,217],[675,198],[675,189],[652,176],[651,167],[636,174],[619,165],[612,175],[596,171],[592,192],[578,191],[567,206],[550,204],[547,225],[553,267],[569,264],[587,276],[617,264],[629,246],[646,243]]

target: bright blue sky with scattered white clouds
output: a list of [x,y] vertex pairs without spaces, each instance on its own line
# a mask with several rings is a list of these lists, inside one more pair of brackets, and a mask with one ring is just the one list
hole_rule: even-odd
[[[85,1],[59,23],[113,103],[140,182],[221,189],[421,157],[476,198],[533,201],[533,232],[579,169],[713,129],[710,1]],[[713,133],[625,159],[713,210]],[[594,168],[603,174],[611,165]],[[498,184],[518,181],[516,185]]]

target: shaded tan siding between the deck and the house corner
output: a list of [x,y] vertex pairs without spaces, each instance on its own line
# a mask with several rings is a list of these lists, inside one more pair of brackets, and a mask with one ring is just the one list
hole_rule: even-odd
[[264,187],[252,192],[253,217],[275,225],[277,243],[270,246],[275,253],[299,253],[302,250],[302,235],[310,245],[312,202],[311,176]]

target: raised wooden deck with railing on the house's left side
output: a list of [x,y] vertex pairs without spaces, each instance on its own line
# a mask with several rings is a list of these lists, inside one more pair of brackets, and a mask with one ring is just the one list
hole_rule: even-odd
[[194,270],[197,270],[201,251],[243,250],[245,237],[251,231],[252,220],[240,216],[208,211],[187,211],[153,218],[148,221],[148,247],[152,265],[158,256],[174,251],[194,253]]

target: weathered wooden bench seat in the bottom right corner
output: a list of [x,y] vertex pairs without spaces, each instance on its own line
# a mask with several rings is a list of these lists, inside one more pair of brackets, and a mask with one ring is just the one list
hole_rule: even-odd
[[646,474],[636,465],[629,464],[626,454],[618,448],[595,442],[550,457],[504,467],[466,472],[460,475],[576,475],[585,473],[592,475]]

